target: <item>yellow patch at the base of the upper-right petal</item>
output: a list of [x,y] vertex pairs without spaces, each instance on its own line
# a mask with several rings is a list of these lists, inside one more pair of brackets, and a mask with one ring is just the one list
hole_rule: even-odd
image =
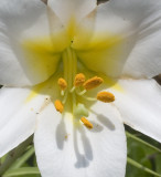
[[[107,31],[96,33],[88,41],[82,50],[77,50],[79,62],[99,76],[99,73],[104,73],[106,76],[118,77],[127,59],[127,38]],[[120,90],[118,85],[115,87]]]

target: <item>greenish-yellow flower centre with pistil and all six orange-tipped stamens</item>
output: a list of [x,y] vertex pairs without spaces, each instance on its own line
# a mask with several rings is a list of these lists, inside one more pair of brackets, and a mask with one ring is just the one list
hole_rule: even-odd
[[96,75],[86,80],[85,74],[79,73],[77,55],[72,48],[67,48],[63,52],[62,59],[64,75],[57,81],[61,98],[54,102],[55,110],[60,113],[63,113],[64,105],[69,97],[73,116],[80,119],[80,122],[87,128],[93,128],[93,124],[89,123],[89,121],[86,118],[89,115],[88,110],[86,108],[85,104],[79,102],[80,98],[78,97],[90,102],[101,101],[104,103],[109,103],[115,101],[115,96],[111,93],[104,91],[99,92],[96,98],[87,97],[86,93],[98,87],[104,82],[104,80]]

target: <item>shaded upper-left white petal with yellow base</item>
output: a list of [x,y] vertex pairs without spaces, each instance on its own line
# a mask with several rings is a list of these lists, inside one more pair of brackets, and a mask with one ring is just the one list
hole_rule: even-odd
[[32,85],[56,70],[46,6],[40,0],[1,0],[0,84]]

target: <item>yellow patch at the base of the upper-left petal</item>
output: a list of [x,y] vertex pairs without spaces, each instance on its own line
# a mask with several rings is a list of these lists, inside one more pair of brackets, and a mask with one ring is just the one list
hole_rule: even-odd
[[24,66],[29,79],[45,81],[55,73],[61,54],[55,52],[50,37],[23,40],[21,43],[25,58],[20,64]]

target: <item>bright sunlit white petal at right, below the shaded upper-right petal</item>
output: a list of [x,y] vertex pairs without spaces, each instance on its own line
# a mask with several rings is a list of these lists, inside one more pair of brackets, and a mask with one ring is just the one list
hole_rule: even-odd
[[125,124],[161,142],[161,87],[154,80],[120,80],[116,106]]

